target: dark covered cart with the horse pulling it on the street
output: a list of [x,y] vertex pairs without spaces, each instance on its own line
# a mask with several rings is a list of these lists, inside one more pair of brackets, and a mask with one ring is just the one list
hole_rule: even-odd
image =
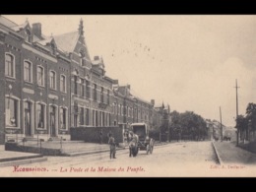
[[146,123],[131,124],[133,134],[138,136],[137,144],[130,145],[130,156],[136,157],[139,151],[146,151],[147,155],[153,153],[155,140],[149,137]]

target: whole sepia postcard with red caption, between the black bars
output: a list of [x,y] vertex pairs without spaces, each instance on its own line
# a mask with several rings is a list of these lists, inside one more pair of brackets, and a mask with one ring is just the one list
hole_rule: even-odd
[[255,176],[256,16],[1,15],[1,177]]

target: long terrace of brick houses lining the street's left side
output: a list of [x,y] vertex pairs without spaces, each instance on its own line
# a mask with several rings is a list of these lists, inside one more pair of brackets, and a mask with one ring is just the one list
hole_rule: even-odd
[[19,137],[69,139],[70,127],[158,127],[155,100],[105,75],[102,57],[89,55],[84,24],[45,36],[39,23],[17,25],[0,16],[0,143]]

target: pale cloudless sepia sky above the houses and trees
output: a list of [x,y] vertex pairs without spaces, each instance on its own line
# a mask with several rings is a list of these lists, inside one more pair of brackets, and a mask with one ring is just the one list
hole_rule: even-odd
[[91,59],[103,57],[106,76],[170,110],[194,111],[234,126],[256,102],[256,16],[250,15],[8,15],[41,23],[42,33],[78,30],[84,21]]

